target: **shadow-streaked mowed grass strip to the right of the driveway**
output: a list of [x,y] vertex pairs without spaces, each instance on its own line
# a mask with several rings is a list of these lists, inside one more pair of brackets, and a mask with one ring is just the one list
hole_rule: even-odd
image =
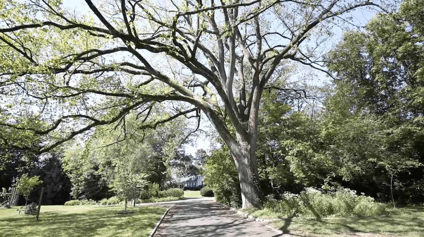
[[[254,217],[278,218],[265,210],[243,210]],[[293,236],[424,236],[424,206],[398,208],[396,215],[348,218],[279,218],[271,226]]]

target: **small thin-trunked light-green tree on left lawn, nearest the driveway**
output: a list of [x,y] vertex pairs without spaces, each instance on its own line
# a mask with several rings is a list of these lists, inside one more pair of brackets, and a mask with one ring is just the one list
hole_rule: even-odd
[[127,203],[131,199],[136,199],[136,189],[148,185],[146,174],[135,174],[133,172],[125,172],[125,169],[117,167],[117,173],[112,181],[111,188],[125,202],[125,212],[127,211]]

